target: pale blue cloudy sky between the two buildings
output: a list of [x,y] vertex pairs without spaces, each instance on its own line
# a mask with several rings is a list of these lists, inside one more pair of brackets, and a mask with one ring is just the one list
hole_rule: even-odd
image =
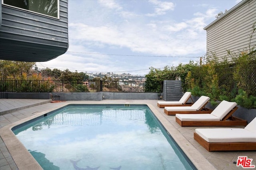
[[69,0],[68,51],[38,68],[144,76],[199,62],[204,27],[241,0]]

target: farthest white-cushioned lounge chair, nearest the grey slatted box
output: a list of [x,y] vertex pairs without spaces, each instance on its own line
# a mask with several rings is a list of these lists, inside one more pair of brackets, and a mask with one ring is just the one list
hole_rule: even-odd
[[191,98],[191,92],[186,92],[186,93],[184,93],[182,98],[180,98],[179,101],[170,101],[170,102],[158,101],[157,106],[160,108],[164,108],[167,106],[170,106],[170,107],[172,107],[172,106],[192,106],[193,103],[188,103],[189,98]]

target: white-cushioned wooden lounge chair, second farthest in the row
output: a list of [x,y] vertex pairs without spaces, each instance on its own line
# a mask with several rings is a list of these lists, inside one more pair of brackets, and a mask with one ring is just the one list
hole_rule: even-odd
[[211,113],[212,109],[204,108],[209,100],[209,97],[201,96],[192,106],[164,107],[164,113],[167,115],[175,115],[176,113]]

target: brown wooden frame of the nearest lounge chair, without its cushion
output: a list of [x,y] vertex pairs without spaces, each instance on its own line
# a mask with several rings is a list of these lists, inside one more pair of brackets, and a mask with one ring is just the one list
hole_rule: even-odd
[[208,151],[217,150],[256,150],[256,142],[238,143],[208,143],[197,133],[194,132],[194,139]]

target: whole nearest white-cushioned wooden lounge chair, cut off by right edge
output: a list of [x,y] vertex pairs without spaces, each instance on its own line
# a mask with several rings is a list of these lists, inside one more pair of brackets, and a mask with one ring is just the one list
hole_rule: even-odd
[[256,117],[244,129],[196,129],[194,139],[208,151],[256,150]]

